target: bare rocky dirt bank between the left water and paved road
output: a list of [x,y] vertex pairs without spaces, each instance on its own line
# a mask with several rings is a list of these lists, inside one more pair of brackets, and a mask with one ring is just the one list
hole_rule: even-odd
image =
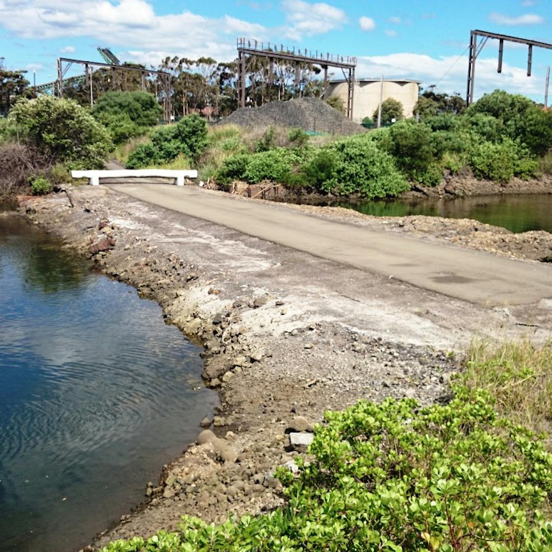
[[174,528],[183,513],[220,521],[271,508],[281,500],[272,471],[297,453],[289,429],[309,430],[327,408],[360,397],[443,400],[457,367],[448,351],[474,334],[545,339],[551,330],[552,301],[485,309],[105,187],[76,188],[72,198],[74,208],[57,194],[22,211],[157,300],[167,321],[203,344],[205,382],[221,396],[205,421],[218,438],[203,434],[166,466],[145,485],[144,509],[121,512],[97,546]]

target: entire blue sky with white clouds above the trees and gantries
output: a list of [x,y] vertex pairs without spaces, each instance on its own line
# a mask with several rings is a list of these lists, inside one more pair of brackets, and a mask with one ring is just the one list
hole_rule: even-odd
[[[358,57],[358,77],[413,78],[465,94],[471,29],[552,43],[551,0],[0,0],[0,57],[52,79],[57,57],[101,61],[108,46],[123,61],[157,64],[164,56],[218,61],[236,56],[246,36]],[[477,60],[476,97],[495,88],[542,101],[552,50],[506,45],[501,75],[496,41]]]

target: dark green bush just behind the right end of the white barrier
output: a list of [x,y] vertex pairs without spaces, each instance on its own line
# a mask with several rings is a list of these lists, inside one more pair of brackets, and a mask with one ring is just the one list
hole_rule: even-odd
[[140,144],[129,155],[126,167],[136,169],[168,163],[179,156],[195,160],[207,145],[205,120],[199,115],[188,115],[174,125],[153,132],[150,142]]

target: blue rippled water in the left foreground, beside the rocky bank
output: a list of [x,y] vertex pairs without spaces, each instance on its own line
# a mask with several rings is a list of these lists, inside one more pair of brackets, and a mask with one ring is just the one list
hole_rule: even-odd
[[75,552],[143,500],[216,403],[198,353],[155,302],[0,213],[2,552]]

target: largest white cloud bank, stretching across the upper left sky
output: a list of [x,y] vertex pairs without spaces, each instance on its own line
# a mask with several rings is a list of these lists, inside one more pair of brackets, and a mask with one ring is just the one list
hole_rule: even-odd
[[35,40],[87,36],[103,43],[108,37],[114,49],[142,52],[148,60],[152,59],[148,52],[167,52],[171,57],[211,56],[229,61],[236,57],[236,35],[257,38],[266,32],[262,25],[229,15],[207,18],[190,11],[157,15],[146,0],[114,4],[107,0],[0,0],[0,22],[6,30]]

